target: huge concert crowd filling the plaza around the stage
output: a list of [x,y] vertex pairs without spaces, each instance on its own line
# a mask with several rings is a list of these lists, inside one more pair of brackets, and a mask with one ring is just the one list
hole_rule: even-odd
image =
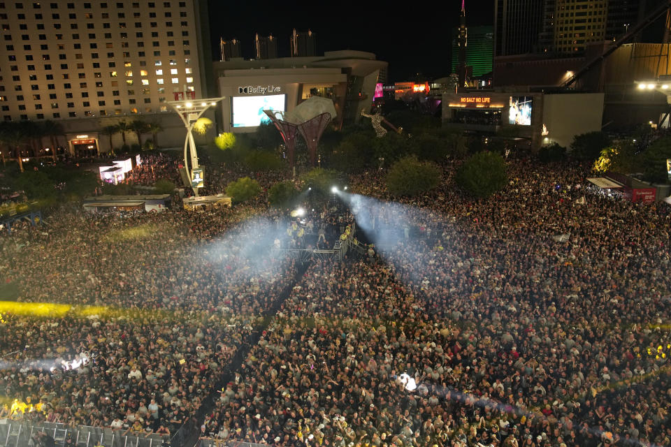
[[[74,306],[2,314],[0,389],[39,402],[34,418],[147,432],[215,395],[203,436],[285,447],[671,446],[668,205],[530,160],[473,201],[452,168],[394,205],[379,172],[352,177],[377,201],[338,219],[365,218],[375,256],[312,261],[295,282],[297,265],[259,255],[287,235],[259,203],[64,210],[3,235],[20,301]],[[338,226],[327,214],[305,226]]]

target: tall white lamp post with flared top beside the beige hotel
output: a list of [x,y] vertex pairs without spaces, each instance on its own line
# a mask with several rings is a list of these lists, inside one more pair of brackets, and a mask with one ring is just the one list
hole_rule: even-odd
[[[187,128],[187,137],[184,140],[184,169],[187,175],[187,179],[191,183],[191,187],[194,190],[194,194],[198,197],[198,188],[199,184],[202,186],[203,175],[199,171],[196,171],[194,176],[194,171],[198,168],[198,154],[196,154],[196,142],[194,141],[194,126],[196,121],[203,116],[210,107],[217,105],[219,101],[224,99],[221,98],[205,98],[205,99],[192,99],[186,101],[166,101],[171,107],[180,115],[184,126]],[[189,161],[191,162],[191,168],[189,169]],[[198,175],[199,174],[199,175]],[[194,181],[195,180],[195,181]]]

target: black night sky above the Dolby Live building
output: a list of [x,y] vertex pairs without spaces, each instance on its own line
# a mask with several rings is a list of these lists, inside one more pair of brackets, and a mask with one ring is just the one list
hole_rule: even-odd
[[[493,0],[466,0],[468,25],[493,24]],[[253,55],[254,34],[273,34],[280,57],[289,56],[294,27],[312,30],[317,54],[332,50],[373,52],[389,62],[388,81],[449,75],[451,29],[459,24],[461,0],[405,1],[221,1],[209,0],[215,60],[219,37],[237,38],[243,57]]]

